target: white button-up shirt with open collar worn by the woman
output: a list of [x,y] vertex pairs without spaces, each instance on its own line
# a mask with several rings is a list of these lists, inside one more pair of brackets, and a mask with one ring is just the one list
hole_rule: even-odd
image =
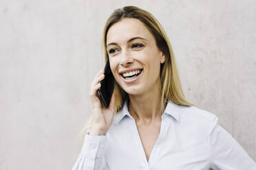
[[149,161],[127,101],[106,135],[88,132],[72,170],[256,170],[256,163],[214,114],[172,101],[162,114]]

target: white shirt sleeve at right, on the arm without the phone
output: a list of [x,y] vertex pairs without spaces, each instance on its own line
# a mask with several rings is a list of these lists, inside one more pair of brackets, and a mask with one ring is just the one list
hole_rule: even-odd
[[210,134],[211,168],[214,170],[256,170],[256,163],[222,126],[213,125]]

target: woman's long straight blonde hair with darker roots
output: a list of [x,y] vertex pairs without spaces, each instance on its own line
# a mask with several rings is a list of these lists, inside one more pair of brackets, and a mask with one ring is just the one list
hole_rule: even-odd
[[[164,32],[164,29],[157,21],[157,19],[149,12],[135,6],[125,6],[124,8],[115,10],[113,14],[111,14],[105,24],[103,32],[103,48],[105,53],[105,62],[108,58],[106,49],[107,32],[111,25],[114,25],[118,21],[121,21],[125,18],[138,19],[142,23],[144,23],[147,29],[149,29],[151,34],[153,34],[153,37],[156,39],[156,45],[166,56],[166,61],[161,64],[160,69],[162,95],[160,101],[161,112],[164,111],[164,106],[168,100],[171,100],[175,104],[182,106],[193,106],[188,101],[186,101],[184,97],[182,86],[180,84],[180,78],[178,76],[178,70],[175,65],[173,49],[171,48],[171,44],[169,42],[169,39],[167,38],[167,34]],[[118,112],[120,109],[122,109],[125,99],[127,98],[127,93],[125,92],[125,90],[122,90],[122,88],[120,88],[117,83],[115,83],[114,93],[116,94],[115,112]],[[85,127],[81,131],[82,137],[85,136],[87,127],[89,127],[91,123],[92,116],[89,117],[89,121],[86,123]]]

